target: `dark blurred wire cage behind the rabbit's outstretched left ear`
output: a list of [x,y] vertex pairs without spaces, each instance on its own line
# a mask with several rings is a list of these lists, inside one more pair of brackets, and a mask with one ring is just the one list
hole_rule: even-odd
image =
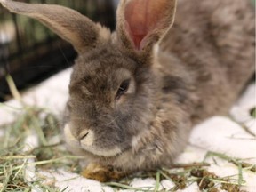
[[[115,28],[117,1],[23,0],[67,6],[111,29]],[[72,46],[41,23],[0,6],[0,101],[10,98],[6,74],[11,74],[16,86],[22,89],[68,68],[75,58]]]

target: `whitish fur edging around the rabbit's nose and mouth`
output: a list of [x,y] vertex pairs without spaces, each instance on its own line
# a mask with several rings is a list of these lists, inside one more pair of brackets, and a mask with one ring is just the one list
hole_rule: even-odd
[[[87,133],[88,134],[88,133]],[[68,124],[64,127],[64,138],[68,144],[68,148],[75,154],[83,155],[84,152],[90,153],[94,156],[116,156],[122,153],[121,148],[117,146],[113,148],[97,148],[93,145],[93,133],[90,132],[86,138],[83,137],[78,140],[71,132]]]

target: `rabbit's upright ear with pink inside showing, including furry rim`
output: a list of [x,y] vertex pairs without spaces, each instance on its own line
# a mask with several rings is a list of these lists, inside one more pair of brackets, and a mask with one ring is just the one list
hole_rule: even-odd
[[121,0],[117,36],[129,49],[148,51],[172,27],[176,0]]

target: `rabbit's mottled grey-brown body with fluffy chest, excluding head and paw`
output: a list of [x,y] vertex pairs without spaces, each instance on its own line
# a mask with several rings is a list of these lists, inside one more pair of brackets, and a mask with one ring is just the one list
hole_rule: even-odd
[[[255,72],[254,34],[250,1],[179,0],[174,24],[156,48],[154,72],[162,89],[154,98],[156,103],[160,100],[162,110],[156,113],[152,129],[134,139],[143,138],[134,145],[137,148],[109,158],[107,164],[126,172],[168,166],[187,145],[192,125],[209,116],[228,115]],[[148,78],[153,76],[148,72]],[[179,134],[168,132],[170,124],[182,127],[177,143]],[[158,146],[148,145],[149,140]],[[134,154],[139,150],[144,151]],[[104,163],[105,157],[100,164]]]

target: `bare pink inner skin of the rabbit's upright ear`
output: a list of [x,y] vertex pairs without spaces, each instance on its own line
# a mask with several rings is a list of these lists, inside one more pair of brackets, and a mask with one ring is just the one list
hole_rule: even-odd
[[143,49],[141,41],[157,28],[164,18],[164,7],[168,0],[131,0],[125,7],[125,29],[136,49]]

